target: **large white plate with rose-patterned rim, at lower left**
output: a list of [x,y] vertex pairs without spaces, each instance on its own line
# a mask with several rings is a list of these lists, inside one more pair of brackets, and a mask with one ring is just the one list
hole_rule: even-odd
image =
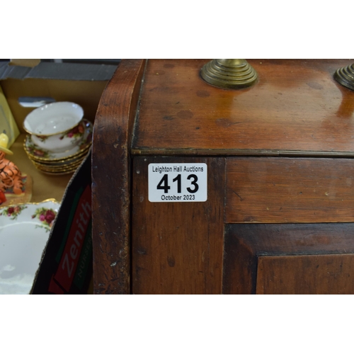
[[0,207],[0,294],[28,294],[59,210],[54,199]]

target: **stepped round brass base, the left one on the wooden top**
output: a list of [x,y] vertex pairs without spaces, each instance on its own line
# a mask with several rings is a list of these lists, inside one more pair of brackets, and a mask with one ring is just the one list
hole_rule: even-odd
[[245,59],[212,59],[202,67],[202,78],[222,89],[243,89],[257,81],[256,70]]

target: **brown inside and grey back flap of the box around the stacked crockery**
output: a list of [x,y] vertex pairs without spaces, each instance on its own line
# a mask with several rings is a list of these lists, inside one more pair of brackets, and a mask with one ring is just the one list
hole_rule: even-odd
[[34,62],[37,64],[34,67],[33,62],[28,60],[0,62],[0,86],[21,130],[21,135],[11,147],[13,155],[10,159],[23,173],[32,177],[32,202],[41,202],[48,198],[61,201],[71,176],[45,175],[35,169],[28,159],[23,149],[26,135],[23,120],[34,107],[23,107],[18,99],[51,97],[55,101],[79,103],[84,108],[85,118],[93,122],[105,85],[118,64],[37,62]]

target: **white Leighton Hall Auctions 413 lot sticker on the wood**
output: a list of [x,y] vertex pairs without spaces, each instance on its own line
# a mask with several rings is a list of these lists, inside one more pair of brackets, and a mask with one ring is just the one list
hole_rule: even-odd
[[149,164],[150,202],[205,202],[207,164]]

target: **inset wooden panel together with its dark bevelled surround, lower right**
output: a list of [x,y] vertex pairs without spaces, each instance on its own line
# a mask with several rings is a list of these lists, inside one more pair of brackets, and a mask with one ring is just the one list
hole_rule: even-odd
[[[275,282],[283,293],[289,294],[294,293],[295,290],[304,294],[354,290],[353,285],[343,285],[346,278],[350,282],[354,277],[353,258],[351,258],[354,256],[354,224],[352,223],[227,224],[224,240],[224,294],[255,294],[261,292],[262,287],[267,293],[280,291],[275,285],[273,288],[270,287],[269,279]],[[331,257],[318,258],[319,255],[331,255]],[[289,258],[289,256],[294,257]],[[262,257],[267,258],[264,260]],[[260,259],[261,263],[258,263]],[[339,261],[341,259],[343,259],[342,268]],[[319,263],[316,263],[318,260]],[[262,270],[260,264],[264,263],[266,264]],[[317,265],[321,269],[316,268]],[[329,278],[325,278],[326,269]],[[261,273],[257,273],[259,271]],[[258,276],[261,276],[259,280]],[[290,280],[291,277],[297,279],[297,283],[295,280]],[[306,282],[301,283],[301,278]],[[334,282],[336,285],[333,285]]]

